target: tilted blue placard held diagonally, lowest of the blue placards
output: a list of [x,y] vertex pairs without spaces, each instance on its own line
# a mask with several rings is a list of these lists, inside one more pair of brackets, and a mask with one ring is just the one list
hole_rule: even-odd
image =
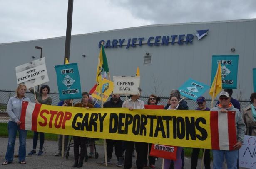
[[189,79],[181,87],[179,87],[178,90],[182,96],[196,100],[198,97],[202,96],[204,92],[206,92],[206,90],[209,88],[210,87],[204,83]]

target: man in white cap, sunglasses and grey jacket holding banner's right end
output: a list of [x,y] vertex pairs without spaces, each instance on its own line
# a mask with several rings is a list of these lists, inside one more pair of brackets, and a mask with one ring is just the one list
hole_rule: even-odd
[[233,146],[233,150],[212,150],[213,154],[213,168],[222,169],[224,155],[226,157],[226,163],[228,169],[237,169],[238,150],[241,148],[244,141],[244,133],[246,130],[243,118],[238,109],[230,102],[230,96],[228,92],[220,92],[219,102],[216,107],[212,108],[211,111],[219,111],[221,113],[227,113],[228,111],[235,111],[235,123],[236,123],[236,135],[237,143]]

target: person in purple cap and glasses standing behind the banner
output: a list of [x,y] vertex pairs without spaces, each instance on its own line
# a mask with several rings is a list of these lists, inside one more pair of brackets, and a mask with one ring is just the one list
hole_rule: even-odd
[[[204,110],[209,111],[210,109],[206,107],[206,100],[203,96],[200,96],[198,99],[196,99],[198,107],[196,110]],[[197,159],[200,152],[200,148],[193,148],[192,154],[191,154],[191,169],[196,169],[197,167]],[[204,167],[205,169],[210,169],[211,166],[211,157],[210,157],[210,150],[206,149],[204,154]]]

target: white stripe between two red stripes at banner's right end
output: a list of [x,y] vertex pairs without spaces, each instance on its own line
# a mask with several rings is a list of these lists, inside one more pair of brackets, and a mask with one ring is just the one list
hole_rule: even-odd
[[[228,113],[218,111],[219,149],[229,150]],[[221,126],[221,128],[220,128]]]

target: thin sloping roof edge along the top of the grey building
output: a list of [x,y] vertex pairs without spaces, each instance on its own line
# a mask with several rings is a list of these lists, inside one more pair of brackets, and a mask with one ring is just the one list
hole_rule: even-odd
[[[83,35],[91,35],[91,34],[99,34],[99,33],[101,34],[101,33],[112,32],[112,31],[123,31],[123,30],[129,30],[129,29],[146,28],[146,27],[177,26],[177,25],[188,25],[188,24],[215,24],[215,23],[225,23],[225,22],[247,22],[247,21],[256,21],[256,18],[224,20],[224,21],[174,23],[174,24],[152,24],[152,25],[144,25],[144,26],[138,26],[138,27],[129,27],[129,28],[121,28],[121,29],[112,29],[112,30],[107,30],[107,31],[91,32],[91,33],[85,33],[85,34],[75,34],[75,35],[72,35],[72,37],[83,36]],[[35,39],[35,40],[28,40],[28,41],[10,42],[10,43],[0,43],[0,45],[7,45],[7,44],[14,44],[14,43],[24,43],[24,42],[33,42],[33,41],[42,41],[42,40],[51,40],[51,39],[61,39],[61,38],[65,38],[65,36],[59,36],[59,37],[54,37],[54,38],[45,38],[45,39]]]

